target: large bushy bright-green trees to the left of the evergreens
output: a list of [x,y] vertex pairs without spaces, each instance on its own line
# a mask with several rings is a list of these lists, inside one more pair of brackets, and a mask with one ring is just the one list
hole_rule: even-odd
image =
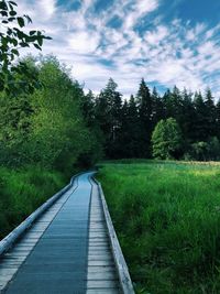
[[[29,58],[44,87],[11,99],[0,96],[0,162],[8,166],[37,163],[70,175],[101,154],[96,126],[88,127],[81,109],[85,98],[77,81],[53,56]],[[84,163],[84,164],[82,164]]]

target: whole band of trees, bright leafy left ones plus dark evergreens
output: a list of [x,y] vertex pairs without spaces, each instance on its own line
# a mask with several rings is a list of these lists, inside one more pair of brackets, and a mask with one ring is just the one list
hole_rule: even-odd
[[69,175],[100,159],[219,160],[220,101],[210,89],[160,95],[142,79],[136,95],[123,99],[110,78],[99,95],[85,94],[56,57],[23,62],[40,86],[0,92],[1,165],[38,164]]

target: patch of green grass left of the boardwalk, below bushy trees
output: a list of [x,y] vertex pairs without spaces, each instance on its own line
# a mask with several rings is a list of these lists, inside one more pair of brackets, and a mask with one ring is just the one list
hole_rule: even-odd
[[0,167],[0,239],[65,183],[59,173],[35,166],[22,170]]

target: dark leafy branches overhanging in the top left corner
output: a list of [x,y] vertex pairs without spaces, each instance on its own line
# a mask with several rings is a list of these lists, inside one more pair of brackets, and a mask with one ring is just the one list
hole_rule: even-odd
[[25,63],[14,64],[20,48],[33,45],[41,50],[43,41],[51,39],[41,31],[26,32],[24,26],[32,20],[25,14],[18,15],[15,8],[13,1],[0,1],[0,91],[10,96],[16,96],[21,91],[33,92],[38,87],[37,77]]

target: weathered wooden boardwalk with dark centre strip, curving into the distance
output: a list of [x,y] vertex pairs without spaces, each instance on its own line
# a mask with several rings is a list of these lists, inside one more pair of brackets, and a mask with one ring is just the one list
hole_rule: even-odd
[[76,177],[0,255],[0,293],[134,293],[101,187],[91,175]]

